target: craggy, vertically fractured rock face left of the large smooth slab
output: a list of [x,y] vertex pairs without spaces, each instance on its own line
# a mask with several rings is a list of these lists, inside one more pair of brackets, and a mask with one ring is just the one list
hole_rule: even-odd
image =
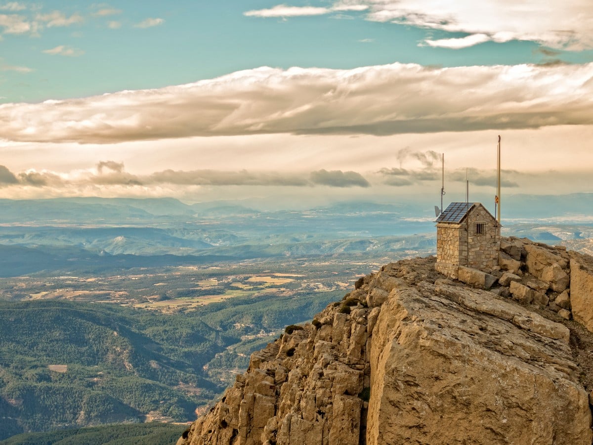
[[369,309],[339,309],[318,314],[318,328],[292,330],[255,352],[247,373],[178,443],[358,444]]

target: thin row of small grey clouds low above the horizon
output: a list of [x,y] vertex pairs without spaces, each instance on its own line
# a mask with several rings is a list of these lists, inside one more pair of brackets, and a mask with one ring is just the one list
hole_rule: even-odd
[[[368,172],[366,176],[374,185],[409,186],[424,182],[440,181],[441,169],[433,163],[436,153],[432,151],[415,152],[402,149],[396,155],[397,160],[415,158],[420,161],[420,169],[403,169],[401,167],[384,167],[376,172]],[[496,177],[492,171],[469,169],[470,183],[477,186],[493,186]],[[466,182],[466,169],[447,171],[449,182]],[[505,187],[518,187],[514,180],[522,174],[515,170],[504,171]],[[276,173],[270,171],[223,171],[223,170],[162,170],[151,174],[132,174],[125,171],[123,163],[116,161],[100,161],[94,169],[76,170],[69,173],[54,171],[27,170],[12,173],[6,166],[0,165],[0,188],[8,186],[20,187],[80,187],[80,186],[126,186],[126,187],[159,187],[174,186],[273,186],[273,187],[371,187],[369,179],[356,171],[315,170],[306,172]]]

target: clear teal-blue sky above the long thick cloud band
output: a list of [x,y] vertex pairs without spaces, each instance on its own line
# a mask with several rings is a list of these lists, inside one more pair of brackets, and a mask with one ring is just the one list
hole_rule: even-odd
[[[11,4],[19,6],[13,11]],[[368,11],[305,17],[245,15],[273,6],[270,1],[244,0],[5,2],[4,15],[22,17],[43,28],[7,33],[5,27],[2,63],[5,68],[22,69],[2,71],[2,101],[36,102],[158,88],[264,65],[347,69],[393,62],[467,66],[593,60],[591,50],[562,51],[529,41],[486,42],[457,50],[419,45],[427,38],[467,33],[381,23],[368,20]],[[56,11],[65,24],[36,18]],[[146,27],[139,27],[142,23]],[[47,53],[56,47],[64,49]],[[553,53],[546,55],[550,50]]]

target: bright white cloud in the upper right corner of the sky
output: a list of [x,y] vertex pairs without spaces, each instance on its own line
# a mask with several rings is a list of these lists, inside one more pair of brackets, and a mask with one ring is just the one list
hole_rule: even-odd
[[407,24],[480,37],[427,40],[452,49],[482,43],[529,40],[557,49],[593,48],[593,8],[590,0],[349,0],[329,8],[278,5],[248,11],[257,17],[320,15],[332,11],[368,11],[371,21]]

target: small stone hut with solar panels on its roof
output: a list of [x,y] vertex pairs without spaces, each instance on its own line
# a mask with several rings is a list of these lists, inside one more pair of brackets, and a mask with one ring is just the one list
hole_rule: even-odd
[[490,272],[498,266],[500,224],[479,202],[451,202],[436,218],[439,269],[466,266]]

